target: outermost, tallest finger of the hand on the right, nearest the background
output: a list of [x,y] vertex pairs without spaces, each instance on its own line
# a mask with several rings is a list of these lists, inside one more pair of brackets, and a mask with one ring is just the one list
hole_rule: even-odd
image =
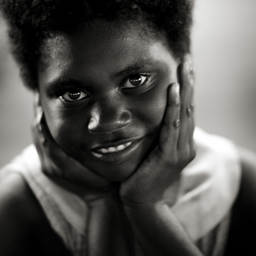
[[192,88],[189,81],[190,65],[187,62],[183,62],[178,67],[178,80],[180,82],[180,133],[178,139],[178,149],[183,151],[183,154],[187,151],[187,143],[190,138],[190,125],[189,120],[191,115],[191,94]]

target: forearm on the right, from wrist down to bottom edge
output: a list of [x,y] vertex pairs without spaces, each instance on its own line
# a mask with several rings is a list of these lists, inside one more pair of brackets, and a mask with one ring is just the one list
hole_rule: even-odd
[[146,256],[202,255],[165,203],[125,207],[125,212]]

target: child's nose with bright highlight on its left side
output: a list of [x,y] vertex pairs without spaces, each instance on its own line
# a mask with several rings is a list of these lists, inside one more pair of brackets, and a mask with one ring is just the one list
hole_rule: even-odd
[[113,99],[94,103],[91,108],[89,133],[111,133],[132,123],[132,114]]

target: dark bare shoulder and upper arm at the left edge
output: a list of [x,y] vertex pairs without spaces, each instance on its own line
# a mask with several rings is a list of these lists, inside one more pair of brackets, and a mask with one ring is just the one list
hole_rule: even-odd
[[40,255],[40,251],[47,250],[48,237],[57,240],[19,173],[10,173],[0,180],[0,227],[0,255]]

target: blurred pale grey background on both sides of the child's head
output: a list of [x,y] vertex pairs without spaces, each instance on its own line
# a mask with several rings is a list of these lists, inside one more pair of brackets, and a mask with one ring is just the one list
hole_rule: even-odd
[[[194,13],[196,124],[256,152],[256,1],[196,0]],[[31,143],[32,118],[0,16],[0,167]]]

